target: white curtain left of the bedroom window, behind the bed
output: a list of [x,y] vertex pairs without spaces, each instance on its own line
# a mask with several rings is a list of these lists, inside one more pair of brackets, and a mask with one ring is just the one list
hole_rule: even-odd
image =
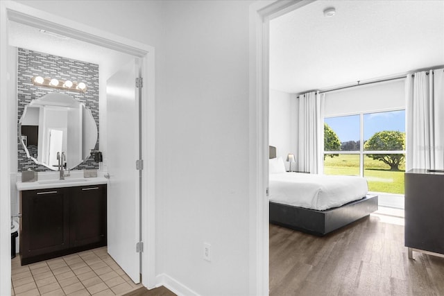
[[323,173],[325,94],[298,96],[298,171]]

